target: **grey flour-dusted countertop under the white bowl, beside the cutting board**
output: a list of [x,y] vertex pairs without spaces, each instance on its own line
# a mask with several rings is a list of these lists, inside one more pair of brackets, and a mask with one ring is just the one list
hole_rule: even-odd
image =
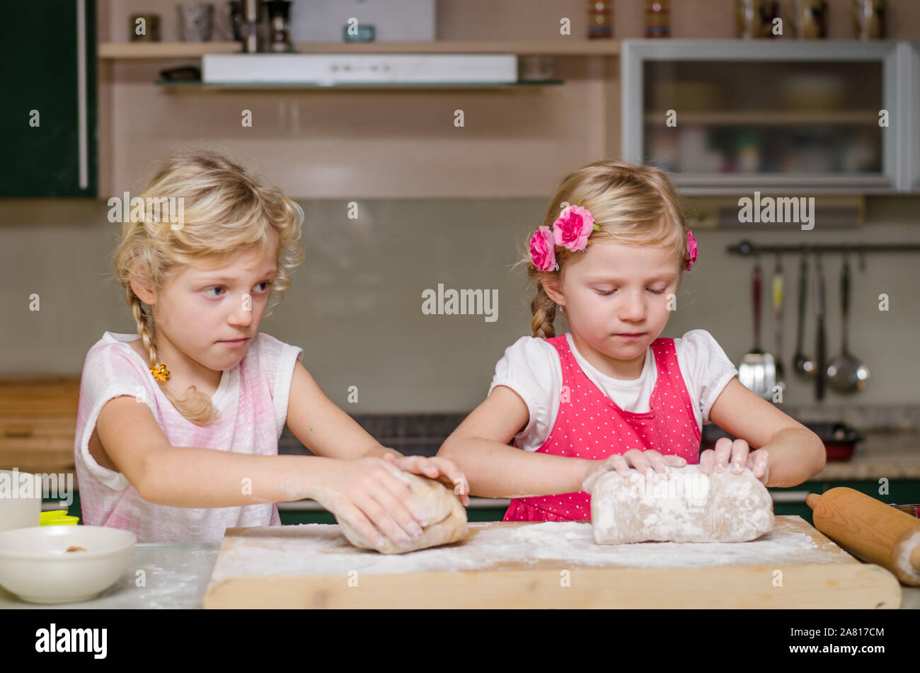
[[[0,587],[0,610],[50,608],[52,610],[147,608],[201,608],[220,542],[139,543],[121,579],[97,599],[83,603],[37,605],[26,603]],[[145,571],[145,586],[137,587],[136,574]],[[920,587],[901,586],[903,609],[920,609]],[[705,608],[705,605],[701,605]]]

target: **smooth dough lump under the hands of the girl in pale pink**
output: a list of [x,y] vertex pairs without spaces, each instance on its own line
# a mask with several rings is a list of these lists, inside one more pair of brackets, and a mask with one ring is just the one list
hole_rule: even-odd
[[351,544],[381,553],[405,553],[436,547],[439,544],[458,542],[466,537],[466,508],[460,502],[459,496],[454,495],[454,491],[434,479],[412,473],[406,473],[406,476],[410,482],[409,491],[428,515],[428,525],[421,530],[419,540],[400,547],[385,537],[385,546],[377,549],[358,530],[337,517],[336,521],[342,533]]

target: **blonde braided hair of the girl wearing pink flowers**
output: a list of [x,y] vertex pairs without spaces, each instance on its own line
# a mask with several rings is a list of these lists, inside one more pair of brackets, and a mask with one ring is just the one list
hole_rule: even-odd
[[[687,257],[687,226],[677,191],[661,168],[631,165],[622,161],[596,161],[570,173],[559,186],[546,209],[542,225],[552,229],[553,222],[566,203],[587,208],[601,227],[588,239],[588,245],[614,242],[621,245],[656,245],[670,247],[679,263],[678,283],[684,278]],[[531,232],[528,234],[528,240]],[[553,321],[556,302],[546,294],[543,280],[561,278],[566,262],[573,254],[556,246],[558,271],[540,271],[530,258],[529,245],[518,263],[527,265],[527,279],[535,286],[530,304],[531,330],[534,337],[556,336]]]

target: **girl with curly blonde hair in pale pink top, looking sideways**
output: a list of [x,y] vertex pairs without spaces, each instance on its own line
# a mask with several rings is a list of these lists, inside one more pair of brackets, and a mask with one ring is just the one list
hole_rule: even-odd
[[[313,498],[378,545],[407,544],[427,521],[406,472],[468,503],[452,462],[381,446],[322,393],[303,348],[259,332],[304,259],[296,202],[205,150],[169,157],[134,201],[115,268],[136,334],[106,332],[80,386],[86,524],[214,542],[280,524],[277,502]],[[178,223],[161,216],[170,204]],[[285,424],[315,456],[278,455]]]

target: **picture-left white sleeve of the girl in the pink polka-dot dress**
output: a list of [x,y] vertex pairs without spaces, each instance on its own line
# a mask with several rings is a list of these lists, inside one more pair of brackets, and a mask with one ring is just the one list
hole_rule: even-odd
[[552,344],[536,337],[521,337],[505,348],[495,365],[489,394],[497,385],[511,388],[527,405],[527,425],[515,435],[517,444],[528,451],[539,449],[556,420],[562,368]]

